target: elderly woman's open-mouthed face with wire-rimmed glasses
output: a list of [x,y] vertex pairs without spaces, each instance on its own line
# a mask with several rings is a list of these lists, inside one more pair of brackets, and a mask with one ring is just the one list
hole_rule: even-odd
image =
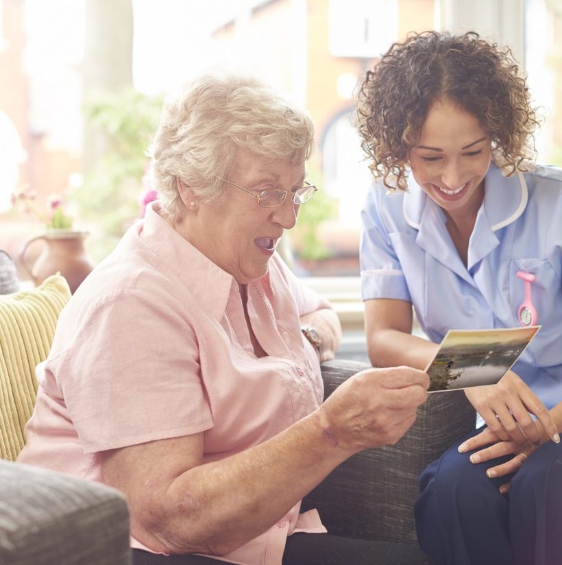
[[[268,160],[239,149],[226,178],[252,192],[295,191],[302,188],[304,173],[304,163]],[[276,208],[262,208],[252,195],[228,184],[223,202],[199,202],[188,221],[188,240],[244,285],[267,273],[280,237],[295,226],[298,213],[289,195]]]

